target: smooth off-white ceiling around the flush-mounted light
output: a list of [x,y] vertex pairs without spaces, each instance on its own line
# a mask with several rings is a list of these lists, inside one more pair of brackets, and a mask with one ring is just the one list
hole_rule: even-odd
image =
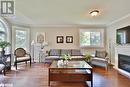
[[[89,12],[98,9],[100,15]],[[110,24],[130,13],[130,0],[15,0],[11,22],[41,25]]]

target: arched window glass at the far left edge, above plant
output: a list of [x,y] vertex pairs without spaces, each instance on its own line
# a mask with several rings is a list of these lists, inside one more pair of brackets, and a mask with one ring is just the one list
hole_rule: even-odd
[[3,22],[0,20],[0,41],[6,40],[6,31]]

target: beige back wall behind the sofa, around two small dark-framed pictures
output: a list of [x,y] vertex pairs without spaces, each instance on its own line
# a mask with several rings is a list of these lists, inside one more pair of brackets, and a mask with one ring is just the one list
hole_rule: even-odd
[[[99,27],[33,27],[31,28],[31,41],[36,39],[37,32],[45,32],[49,45],[46,49],[79,49],[79,29],[98,29]],[[100,27],[101,28],[101,27]],[[104,27],[102,27],[104,29]],[[102,29],[101,28],[101,29]],[[56,36],[64,36],[64,43],[57,43]],[[73,36],[73,43],[66,43],[66,36]],[[101,48],[98,48],[101,49]],[[102,48],[102,49],[105,49]],[[84,48],[83,51],[94,52],[93,48]]]

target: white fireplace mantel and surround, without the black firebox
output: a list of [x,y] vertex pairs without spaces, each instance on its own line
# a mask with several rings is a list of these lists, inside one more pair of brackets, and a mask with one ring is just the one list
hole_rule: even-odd
[[123,46],[116,46],[115,47],[115,69],[117,69],[121,74],[127,76],[128,78],[130,78],[130,73],[119,69],[118,68],[118,54],[123,54],[123,55],[127,55],[130,56],[130,45],[123,45]]

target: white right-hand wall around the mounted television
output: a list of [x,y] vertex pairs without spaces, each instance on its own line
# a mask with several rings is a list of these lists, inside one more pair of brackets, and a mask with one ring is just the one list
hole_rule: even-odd
[[107,26],[107,49],[111,53],[112,64],[115,64],[116,30],[128,25],[130,25],[130,15]]

